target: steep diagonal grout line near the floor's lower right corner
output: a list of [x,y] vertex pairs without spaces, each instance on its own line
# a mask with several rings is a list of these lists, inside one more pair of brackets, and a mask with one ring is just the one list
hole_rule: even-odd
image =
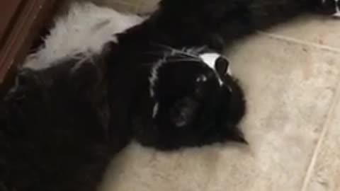
[[333,104],[331,104],[331,108],[327,112],[327,118],[324,122],[324,125],[322,125],[323,126],[322,132],[319,136],[319,140],[317,141],[317,145],[314,148],[312,158],[310,159],[310,165],[308,166],[307,171],[305,173],[305,178],[303,180],[303,184],[302,184],[300,191],[307,191],[308,183],[310,183],[310,180],[312,178],[312,173],[314,172],[315,164],[317,163],[319,151],[324,142],[324,137],[326,137],[328,129],[329,129],[329,125],[331,124],[331,121],[333,120],[332,116],[334,115],[336,106],[340,104],[340,82],[337,83],[336,85],[336,92],[334,93],[334,100],[331,103]]

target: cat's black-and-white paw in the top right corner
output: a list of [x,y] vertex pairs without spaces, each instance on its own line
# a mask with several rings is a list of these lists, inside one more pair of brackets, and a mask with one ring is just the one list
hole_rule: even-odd
[[314,6],[319,13],[340,18],[340,0],[316,0]]

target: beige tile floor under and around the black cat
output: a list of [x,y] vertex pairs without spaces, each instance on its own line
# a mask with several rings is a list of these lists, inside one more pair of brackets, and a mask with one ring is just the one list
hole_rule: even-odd
[[[139,12],[155,2],[95,1]],[[340,190],[339,31],[340,21],[306,16],[239,42],[226,54],[246,91],[250,146],[162,153],[132,144],[101,191]]]

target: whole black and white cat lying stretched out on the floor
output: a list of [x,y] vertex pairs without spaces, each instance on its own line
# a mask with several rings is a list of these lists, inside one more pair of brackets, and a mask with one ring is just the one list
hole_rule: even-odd
[[245,142],[244,95],[220,51],[329,2],[164,0],[146,20],[85,6],[98,14],[83,25],[71,13],[1,97],[0,191],[94,191],[131,139],[166,150]]

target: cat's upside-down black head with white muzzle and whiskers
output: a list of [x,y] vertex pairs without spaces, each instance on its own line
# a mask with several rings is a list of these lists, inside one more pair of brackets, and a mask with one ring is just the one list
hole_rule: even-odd
[[[237,124],[244,116],[242,88],[225,57],[205,50],[172,50],[149,74],[146,124],[137,141],[157,149],[246,142]],[[138,123],[138,122],[137,122]]]

